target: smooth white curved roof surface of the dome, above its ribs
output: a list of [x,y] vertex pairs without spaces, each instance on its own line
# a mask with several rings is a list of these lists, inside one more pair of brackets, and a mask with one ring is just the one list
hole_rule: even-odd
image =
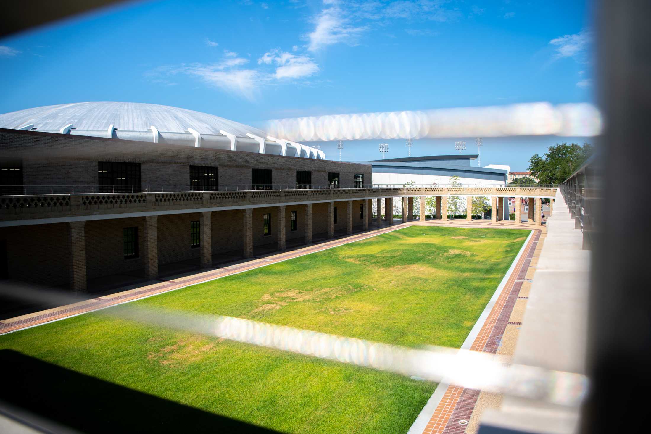
[[0,128],[16,129],[27,124],[34,124],[36,131],[61,129],[68,124],[77,130],[105,130],[113,124],[117,129],[148,131],[153,125],[158,131],[171,133],[184,133],[191,128],[202,134],[219,134],[224,130],[238,137],[247,137],[247,133],[266,137],[264,131],[239,122],[159,104],[81,102],[46,105],[0,115]]

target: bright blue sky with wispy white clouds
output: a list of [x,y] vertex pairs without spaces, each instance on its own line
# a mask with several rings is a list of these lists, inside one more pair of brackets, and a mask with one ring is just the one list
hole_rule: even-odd
[[[0,113],[128,101],[258,125],[335,113],[594,102],[590,7],[586,1],[135,2],[0,40]],[[420,139],[412,156],[452,154],[456,140],[475,142]],[[532,154],[561,141],[584,139],[485,138],[482,165],[525,170]],[[344,159],[379,158],[378,142],[348,141]],[[406,156],[404,141],[388,142],[387,157]],[[336,144],[322,145],[334,159]]]

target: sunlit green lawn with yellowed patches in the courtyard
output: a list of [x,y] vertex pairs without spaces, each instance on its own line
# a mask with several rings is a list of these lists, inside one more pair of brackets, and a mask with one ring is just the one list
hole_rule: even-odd
[[[411,226],[111,310],[156,306],[401,346],[460,347],[527,235]],[[0,336],[0,349],[291,433],[405,433],[436,388],[100,314]],[[176,423],[194,430],[192,421]],[[161,428],[176,429],[169,424]]]

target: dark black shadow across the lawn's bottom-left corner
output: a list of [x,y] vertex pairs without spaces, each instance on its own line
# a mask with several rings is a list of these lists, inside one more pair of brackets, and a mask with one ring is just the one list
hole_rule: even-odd
[[[276,433],[108,383],[12,350],[0,351],[5,412],[58,432]],[[7,410],[7,408],[9,410]],[[18,411],[16,411],[18,409]],[[2,410],[2,409],[0,409]],[[3,413],[5,413],[3,412]],[[31,418],[31,415],[36,415]]]

